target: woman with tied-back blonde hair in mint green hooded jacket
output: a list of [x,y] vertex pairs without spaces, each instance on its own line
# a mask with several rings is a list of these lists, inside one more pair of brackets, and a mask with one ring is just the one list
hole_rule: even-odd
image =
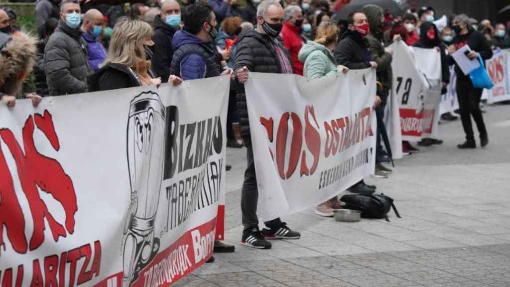
[[[347,73],[349,69],[337,65],[333,50],[338,44],[338,28],[333,23],[322,23],[316,31],[314,41],[308,41],[299,51],[299,61],[304,63],[303,75],[307,79],[318,79],[325,76],[337,76]],[[332,217],[334,209],[341,209],[337,197],[317,206],[315,213],[324,217]]]

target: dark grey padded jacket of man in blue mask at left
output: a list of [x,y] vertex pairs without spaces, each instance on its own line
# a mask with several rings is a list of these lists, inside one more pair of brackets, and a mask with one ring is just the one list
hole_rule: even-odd
[[63,21],[49,38],[44,50],[49,95],[87,91],[87,76],[93,73],[87,57],[82,31],[69,28]]

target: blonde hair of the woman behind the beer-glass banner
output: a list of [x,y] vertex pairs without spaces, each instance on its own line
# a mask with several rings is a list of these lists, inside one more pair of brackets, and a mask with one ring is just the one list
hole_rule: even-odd
[[113,28],[108,57],[104,65],[115,63],[136,66],[136,59],[145,60],[143,42],[152,36],[152,27],[140,20],[119,19]]

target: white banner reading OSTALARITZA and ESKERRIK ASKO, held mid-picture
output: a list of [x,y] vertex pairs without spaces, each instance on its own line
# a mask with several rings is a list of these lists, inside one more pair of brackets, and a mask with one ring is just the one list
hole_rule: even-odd
[[373,69],[312,81],[250,73],[245,90],[264,220],[315,206],[373,172]]

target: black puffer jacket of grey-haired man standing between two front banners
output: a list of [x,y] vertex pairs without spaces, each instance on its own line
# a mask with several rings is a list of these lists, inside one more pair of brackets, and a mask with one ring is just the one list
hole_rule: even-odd
[[[282,66],[274,50],[273,43],[273,39],[266,34],[259,33],[253,29],[243,30],[238,37],[234,70],[236,71],[246,66],[252,72],[282,74]],[[277,41],[277,43],[280,49],[287,55],[289,63],[292,63],[289,52],[285,49],[284,45],[280,41]],[[236,92],[241,135],[245,144],[249,145],[251,138],[244,85],[237,82]]]

